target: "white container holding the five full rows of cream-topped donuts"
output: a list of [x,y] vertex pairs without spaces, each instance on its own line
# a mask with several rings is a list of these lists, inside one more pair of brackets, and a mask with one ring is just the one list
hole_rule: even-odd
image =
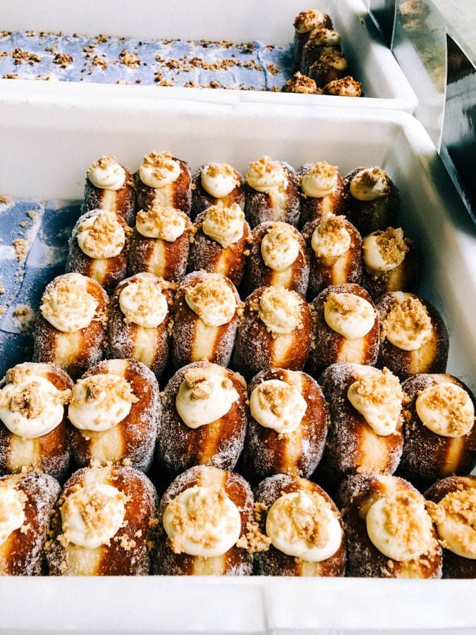
[[[131,168],[167,149],[192,168],[244,172],[267,153],[298,167],[326,159],[343,173],[380,164],[402,198],[402,224],[423,256],[423,295],[451,334],[448,370],[475,388],[476,234],[424,128],[408,114],[252,104],[0,97],[0,192],[80,198],[85,167],[114,153]],[[1,220],[1,219],[0,219]],[[475,583],[463,580],[0,578],[6,633],[274,633],[476,627]],[[442,630],[440,630],[442,629]]]

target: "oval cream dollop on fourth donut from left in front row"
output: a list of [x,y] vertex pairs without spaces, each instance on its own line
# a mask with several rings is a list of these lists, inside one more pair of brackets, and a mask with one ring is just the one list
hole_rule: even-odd
[[322,562],[338,550],[341,524],[331,505],[318,492],[283,494],[269,509],[266,533],[271,544],[287,555]]

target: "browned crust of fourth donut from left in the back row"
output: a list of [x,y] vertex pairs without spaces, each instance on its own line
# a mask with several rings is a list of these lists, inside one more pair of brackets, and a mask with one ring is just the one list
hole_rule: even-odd
[[295,227],[299,220],[299,182],[291,165],[279,161],[286,172],[288,186],[284,193],[286,199],[284,207],[276,205],[272,196],[267,192],[258,192],[245,182],[245,213],[251,227],[256,227],[266,221],[281,221]]

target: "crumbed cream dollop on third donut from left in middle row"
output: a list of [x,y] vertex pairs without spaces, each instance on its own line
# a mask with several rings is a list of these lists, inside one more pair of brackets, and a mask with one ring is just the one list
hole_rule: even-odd
[[236,297],[222,274],[208,273],[205,279],[185,289],[185,302],[209,327],[228,324],[236,311]]

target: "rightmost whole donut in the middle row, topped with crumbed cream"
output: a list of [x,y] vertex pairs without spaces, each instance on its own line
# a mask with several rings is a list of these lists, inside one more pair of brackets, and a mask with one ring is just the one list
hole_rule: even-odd
[[448,331],[436,308],[424,298],[394,291],[377,301],[382,340],[377,365],[401,380],[418,373],[444,373]]

